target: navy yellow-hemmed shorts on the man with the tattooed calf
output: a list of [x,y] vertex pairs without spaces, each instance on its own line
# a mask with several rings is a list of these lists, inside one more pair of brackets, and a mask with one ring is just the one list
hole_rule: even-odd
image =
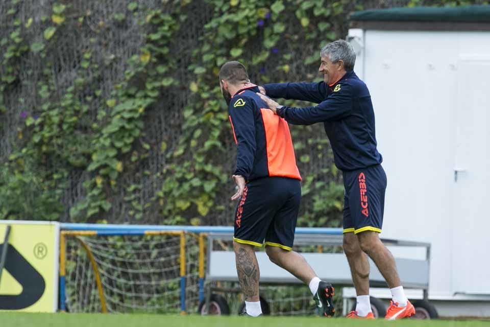
[[298,179],[266,177],[247,183],[235,210],[233,240],[290,251],[301,202]]

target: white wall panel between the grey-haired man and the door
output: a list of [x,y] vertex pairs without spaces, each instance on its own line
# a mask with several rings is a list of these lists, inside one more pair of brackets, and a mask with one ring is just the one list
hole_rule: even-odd
[[457,32],[367,31],[364,48],[364,79],[388,179],[381,237],[432,244],[432,297],[453,293],[457,37]]

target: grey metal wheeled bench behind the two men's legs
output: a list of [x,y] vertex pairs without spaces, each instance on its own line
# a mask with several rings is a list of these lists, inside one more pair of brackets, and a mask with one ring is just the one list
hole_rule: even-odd
[[[205,276],[205,303],[208,308],[213,292],[239,292],[238,288],[220,288],[212,282],[238,282],[235,267],[235,253],[226,250],[214,250],[216,241],[233,240],[233,232],[210,232],[207,235],[207,265]],[[402,285],[405,288],[422,289],[427,300],[429,288],[430,244],[382,239],[389,247],[419,247],[425,249],[425,258],[395,258]],[[295,245],[341,246],[342,230],[339,228],[297,228]],[[257,251],[261,284],[302,284],[295,276],[272,263],[264,251]],[[321,279],[335,287],[352,286],[351,271],[344,253],[302,253],[306,261]],[[396,255],[395,255],[396,256]],[[376,265],[371,261],[370,286],[386,287],[386,282]],[[346,307],[346,306],[345,306]],[[345,308],[346,310],[346,308]],[[203,311],[207,313],[206,309]]]

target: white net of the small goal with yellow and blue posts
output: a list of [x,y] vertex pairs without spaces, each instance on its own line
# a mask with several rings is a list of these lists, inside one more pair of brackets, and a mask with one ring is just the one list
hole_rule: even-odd
[[62,238],[66,254],[60,275],[64,269],[67,311],[197,311],[198,236],[183,232],[104,236],[78,231]]

